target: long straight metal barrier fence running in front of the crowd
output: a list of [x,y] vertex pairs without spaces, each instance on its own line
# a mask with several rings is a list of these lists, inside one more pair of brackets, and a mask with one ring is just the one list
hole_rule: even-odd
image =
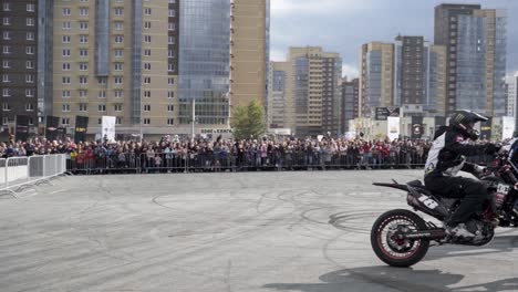
[[[143,153],[101,155],[66,160],[66,169],[74,174],[122,173],[208,173],[256,170],[333,170],[333,169],[408,169],[422,168],[426,154],[418,152],[391,152],[388,154],[362,154],[352,152],[213,152],[213,153]],[[491,157],[470,160],[485,164]],[[0,161],[1,164],[1,161]]]

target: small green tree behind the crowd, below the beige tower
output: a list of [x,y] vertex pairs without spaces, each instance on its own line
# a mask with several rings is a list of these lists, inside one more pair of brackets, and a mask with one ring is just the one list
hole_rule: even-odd
[[248,105],[236,107],[232,129],[236,139],[258,138],[265,134],[266,123],[262,105],[257,100],[253,100]]

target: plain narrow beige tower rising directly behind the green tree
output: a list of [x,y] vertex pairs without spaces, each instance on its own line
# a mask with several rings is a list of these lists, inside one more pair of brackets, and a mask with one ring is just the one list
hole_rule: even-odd
[[235,0],[230,27],[231,106],[266,104],[270,0]]

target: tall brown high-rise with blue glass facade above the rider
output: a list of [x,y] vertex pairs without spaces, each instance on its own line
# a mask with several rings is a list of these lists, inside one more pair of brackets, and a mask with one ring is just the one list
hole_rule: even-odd
[[478,4],[435,8],[435,44],[447,49],[446,112],[506,113],[506,12]]

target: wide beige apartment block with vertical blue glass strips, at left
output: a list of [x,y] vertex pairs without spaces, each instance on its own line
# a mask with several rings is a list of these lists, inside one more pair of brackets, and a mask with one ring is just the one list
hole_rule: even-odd
[[169,134],[177,117],[177,1],[55,1],[52,114],[73,127]]

